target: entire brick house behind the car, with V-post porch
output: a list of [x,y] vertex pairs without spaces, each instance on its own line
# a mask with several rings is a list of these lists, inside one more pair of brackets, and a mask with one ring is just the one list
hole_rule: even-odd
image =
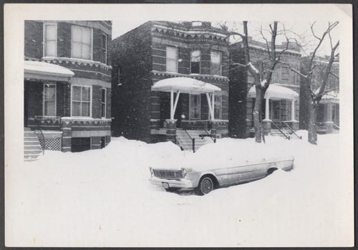
[[228,136],[228,43],[207,21],[147,21],[113,39],[113,134],[180,145],[182,134]]

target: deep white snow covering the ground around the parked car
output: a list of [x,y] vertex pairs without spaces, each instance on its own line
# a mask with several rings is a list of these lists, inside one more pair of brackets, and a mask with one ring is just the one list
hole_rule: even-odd
[[[341,246],[351,238],[338,134],[303,140],[220,139],[195,154],[173,143],[112,138],[107,148],[46,151],[6,168],[6,243],[62,247]],[[149,166],[212,163],[269,150],[295,168],[209,195],[166,193]],[[266,152],[267,153],[267,152]],[[15,243],[17,242],[17,244]]]

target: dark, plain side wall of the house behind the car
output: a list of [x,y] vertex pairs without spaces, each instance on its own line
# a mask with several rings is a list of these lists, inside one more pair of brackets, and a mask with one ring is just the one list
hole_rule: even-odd
[[110,46],[113,134],[143,141],[150,141],[152,56],[148,24],[114,39]]

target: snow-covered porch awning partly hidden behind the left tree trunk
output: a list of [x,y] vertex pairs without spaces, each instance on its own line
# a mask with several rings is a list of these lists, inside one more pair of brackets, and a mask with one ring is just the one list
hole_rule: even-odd
[[[270,99],[296,99],[298,98],[298,93],[296,91],[293,91],[292,89],[289,89],[287,87],[282,87],[278,84],[270,84],[269,88],[266,90],[265,97],[267,98],[269,96]],[[251,87],[248,91],[248,97],[255,98],[256,97],[256,89],[255,86]]]

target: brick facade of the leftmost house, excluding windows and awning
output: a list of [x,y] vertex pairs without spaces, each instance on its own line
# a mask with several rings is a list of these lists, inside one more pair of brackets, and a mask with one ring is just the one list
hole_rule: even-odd
[[[56,55],[44,55],[45,24],[56,24]],[[72,26],[90,30],[91,60],[72,57]],[[110,143],[112,67],[108,48],[111,35],[110,21],[25,21],[25,60],[56,64],[74,73],[71,78],[60,81],[26,74],[24,80],[25,126],[32,130],[48,130],[47,134],[61,131],[64,152],[71,151],[73,138],[89,138],[91,145],[88,147],[91,149],[102,148]],[[54,71],[53,78],[56,77],[58,75]],[[56,116],[44,116],[44,84],[56,84]],[[74,107],[71,91],[74,86],[91,89],[90,116],[72,116],[71,110]],[[105,117],[102,117],[102,89],[105,89]]]

